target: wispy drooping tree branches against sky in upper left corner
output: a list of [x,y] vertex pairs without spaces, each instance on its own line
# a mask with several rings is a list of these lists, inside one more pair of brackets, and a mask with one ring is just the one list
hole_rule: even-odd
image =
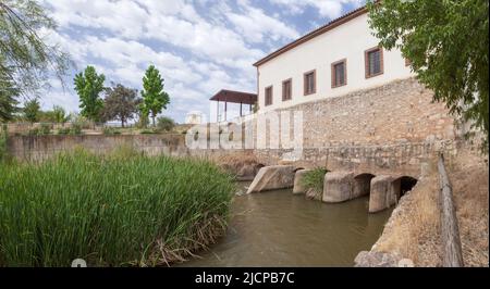
[[70,58],[39,36],[52,29],[54,21],[36,1],[0,1],[0,78],[8,77],[19,95],[35,95],[53,74],[64,86]]

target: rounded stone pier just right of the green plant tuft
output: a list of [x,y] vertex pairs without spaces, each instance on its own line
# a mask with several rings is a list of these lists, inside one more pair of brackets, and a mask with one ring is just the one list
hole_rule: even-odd
[[339,203],[351,200],[354,191],[354,174],[330,172],[324,175],[323,202]]

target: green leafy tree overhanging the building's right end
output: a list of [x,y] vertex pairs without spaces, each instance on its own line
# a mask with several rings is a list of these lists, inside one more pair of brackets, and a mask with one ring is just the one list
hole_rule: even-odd
[[487,0],[369,1],[369,24],[385,49],[399,48],[418,80],[489,140]]

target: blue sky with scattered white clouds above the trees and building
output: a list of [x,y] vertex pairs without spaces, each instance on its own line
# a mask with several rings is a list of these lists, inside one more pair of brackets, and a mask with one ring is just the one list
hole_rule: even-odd
[[192,111],[216,117],[209,98],[219,90],[256,92],[256,61],[364,2],[40,0],[58,23],[56,30],[42,35],[70,53],[75,64],[68,87],[52,79],[40,96],[41,104],[78,112],[73,77],[87,65],[105,74],[107,86],[117,83],[139,90],[152,64],[170,96],[162,115],[179,123]]

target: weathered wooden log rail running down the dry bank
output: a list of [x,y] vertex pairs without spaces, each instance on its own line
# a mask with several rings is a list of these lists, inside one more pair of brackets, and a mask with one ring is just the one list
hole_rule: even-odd
[[457,226],[456,210],[453,202],[453,189],[444,166],[444,156],[439,155],[439,183],[441,199],[441,227],[444,267],[463,267],[460,229]]

